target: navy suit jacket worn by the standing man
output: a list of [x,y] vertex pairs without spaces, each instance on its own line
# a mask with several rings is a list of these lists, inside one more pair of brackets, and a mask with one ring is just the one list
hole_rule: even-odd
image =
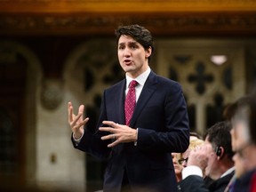
[[[104,91],[100,120],[124,124],[126,80]],[[84,129],[75,148],[92,156],[109,158],[104,177],[104,192],[120,191],[124,170],[132,188],[145,191],[176,191],[171,152],[184,152],[189,144],[187,105],[180,84],[150,72],[134,109],[130,127],[139,128],[137,146],[133,142],[108,148],[111,140],[100,140],[108,132],[92,134]],[[98,128],[97,128],[98,129]],[[149,190],[150,189],[150,190]],[[138,189],[134,189],[138,191]]]

